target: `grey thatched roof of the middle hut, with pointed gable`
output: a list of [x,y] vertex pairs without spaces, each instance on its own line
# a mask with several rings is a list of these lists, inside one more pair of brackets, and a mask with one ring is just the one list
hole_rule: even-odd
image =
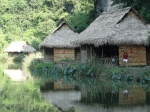
[[78,33],[76,33],[67,23],[62,23],[51,35],[46,37],[43,42],[40,43],[40,49],[47,48],[75,48],[75,45],[71,44],[72,41],[77,40]]

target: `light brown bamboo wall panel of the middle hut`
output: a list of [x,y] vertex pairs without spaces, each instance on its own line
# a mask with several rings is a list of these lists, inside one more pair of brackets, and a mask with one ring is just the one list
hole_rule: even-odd
[[75,50],[67,48],[54,49],[54,61],[75,60]]

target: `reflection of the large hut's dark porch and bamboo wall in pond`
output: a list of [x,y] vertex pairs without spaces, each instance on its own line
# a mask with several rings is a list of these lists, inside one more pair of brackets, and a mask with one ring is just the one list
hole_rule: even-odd
[[[125,90],[126,91],[126,90]],[[131,85],[127,89],[127,94],[124,94],[124,89],[116,91],[101,90],[99,93],[89,89],[81,88],[81,101],[87,103],[101,103],[101,104],[145,104],[150,103],[150,93],[143,90],[141,86]]]

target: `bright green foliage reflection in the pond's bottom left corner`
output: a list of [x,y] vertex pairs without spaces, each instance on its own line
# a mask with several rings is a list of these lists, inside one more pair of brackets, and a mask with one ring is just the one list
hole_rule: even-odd
[[53,105],[44,101],[33,81],[7,83],[1,97],[0,112],[57,112]]

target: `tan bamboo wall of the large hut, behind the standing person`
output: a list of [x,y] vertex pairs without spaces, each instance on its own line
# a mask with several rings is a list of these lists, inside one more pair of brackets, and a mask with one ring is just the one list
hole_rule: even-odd
[[138,66],[146,65],[146,48],[144,46],[120,46],[119,47],[119,65],[123,63],[123,53],[128,53],[128,65]]

